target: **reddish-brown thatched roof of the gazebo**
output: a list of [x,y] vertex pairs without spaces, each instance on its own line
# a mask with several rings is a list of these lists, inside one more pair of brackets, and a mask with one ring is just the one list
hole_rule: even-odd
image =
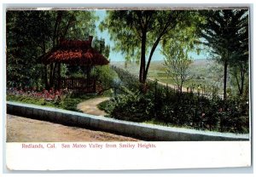
[[87,41],[61,40],[57,48],[42,56],[44,64],[65,63],[79,66],[103,66],[109,61],[91,47],[92,37]]

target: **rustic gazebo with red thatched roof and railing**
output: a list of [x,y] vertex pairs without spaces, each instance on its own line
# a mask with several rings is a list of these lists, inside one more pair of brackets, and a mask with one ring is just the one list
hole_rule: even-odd
[[[87,93],[96,92],[96,79],[90,77],[90,69],[93,66],[108,65],[109,61],[91,46],[92,36],[89,40],[67,40],[61,39],[59,45],[44,54],[42,61],[44,65],[55,64],[57,66],[57,78],[54,79],[55,88],[67,88],[82,90]],[[61,77],[61,64],[70,66],[85,66],[84,77]]]

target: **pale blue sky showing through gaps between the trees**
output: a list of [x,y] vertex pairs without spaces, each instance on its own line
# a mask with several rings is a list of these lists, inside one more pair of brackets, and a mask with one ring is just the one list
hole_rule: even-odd
[[[109,59],[112,61],[125,61],[125,56],[121,54],[120,52],[113,52],[112,48],[114,46],[114,41],[110,40],[110,36],[108,34],[108,30],[106,31],[100,31],[99,29],[99,24],[102,20],[105,19],[106,17],[106,10],[96,10],[96,15],[99,16],[99,20],[96,21],[96,36],[98,38],[104,38],[105,43],[110,45],[110,54],[109,54]],[[201,54],[195,54],[195,53],[190,53],[190,57],[194,60],[200,60],[200,59],[207,59],[207,54],[202,52]],[[160,47],[158,47],[154,51],[154,55],[152,57],[152,60],[164,60],[164,56],[160,54]]]

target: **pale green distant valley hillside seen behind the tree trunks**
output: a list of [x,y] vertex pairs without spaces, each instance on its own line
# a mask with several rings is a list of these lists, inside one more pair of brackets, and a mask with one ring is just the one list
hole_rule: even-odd
[[[139,73],[139,65],[134,62],[125,65],[124,61],[115,61],[111,64],[113,66],[124,68],[135,75],[138,75]],[[201,84],[206,88],[211,88],[213,85],[221,88],[222,73],[222,67],[213,60],[194,60],[189,67],[189,78],[188,81],[184,83],[184,87]],[[148,77],[158,79],[164,83],[175,84],[172,78],[167,76],[163,60],[151,62],[148,70]]]

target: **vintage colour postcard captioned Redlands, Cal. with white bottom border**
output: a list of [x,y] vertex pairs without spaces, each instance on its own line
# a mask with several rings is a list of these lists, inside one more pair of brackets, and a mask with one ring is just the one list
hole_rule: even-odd
[[250,167],[250,14],[7,7],[8,170]]

